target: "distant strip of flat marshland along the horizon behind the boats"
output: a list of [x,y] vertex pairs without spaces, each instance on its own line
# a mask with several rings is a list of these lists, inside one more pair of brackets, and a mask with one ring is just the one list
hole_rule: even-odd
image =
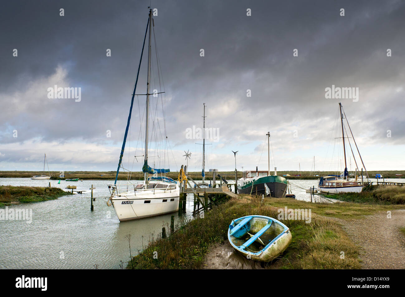
[[[38,173],[36,171],[0,171],[0,178],[30,178]],[[64,180],[68,178],[79,178],[83,180],[114,180],[115,179],[115,171],[65,171],[64,177],[60,177],[59,171],[51,171],[51,180]],[[201,172],[188,172],[191,178],[195,180],[201,180]],[[215,175],[220,174],[227,180],[234,180],[235,179],[235,172],[234,171],[222,171],[216,172]],[[270,174],[274,174],[274,171],[271,171]],[[277,175],[283,176],[286,174],[290,174],[290,176],[284,176],[287,179],[318,179],[320,176],[326,176],[328,174],[336,174],[336,172],[332,171],[317,171],[315,174],[310,171],[301,171],[301,176],[299,175],[299,171],[278,171]],[[363,173],[364,175],[365,172]],[[382,174],[383,178],[405,178],[405,170],[400,171],[369,171],[369,177],[375,178],[375,174]],[[396,176],[395,174],[402,174],[402,176]],[[318,175],[318,176],[314,176]],[[167,177],[173,178],[177,180],[179,176],[179,172],[168,172],[166,173]],[[242,177],[242,171],[237,172],[237,177]],[[212,180],[213,172],[205,172],[205,179]],[[143,180],[143,173],[142,172],[132,172],[131,180]],[[118,180],[128,180],[128,172],[119,172]]]

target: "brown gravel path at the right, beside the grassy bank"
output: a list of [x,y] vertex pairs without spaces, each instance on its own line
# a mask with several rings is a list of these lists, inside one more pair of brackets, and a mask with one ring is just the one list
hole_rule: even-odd
[[393,210],[391,219],[385,212],[364,219],[339,219],[350,239],[360,246],[363,269],[405,269],[405,210]]

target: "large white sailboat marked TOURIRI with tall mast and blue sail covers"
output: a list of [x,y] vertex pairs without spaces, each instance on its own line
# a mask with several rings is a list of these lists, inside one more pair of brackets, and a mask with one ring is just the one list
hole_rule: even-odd
[[[147,30],[143,40],[143,48],[145,46],[146,35],[149,30],[149,45],[148,45],[148,70],[147,70],[147,93],[146,95],[146,120],[145,120],[145,153],[143,163],[144,180],[142,182],[132,183],[128,181],[126,184],[118,184],[118,172],[122,163],[124,155],[124,148],[126,137],[128,135],[128,127],[130,124],[130,117],[134,96],[136,91],[136,83],[139,77],[139,68],[141,66],[143,48],[141,53],[141,61],[139,62],[138,73],[136,75],[134,92],[132,93],[132,101],[130,113],[128,116],[128,123],[122,144],[121,155],[119,158],[117,174],[115,176],[115,183],[108,185],[111,197],[107,201],[107,205],[114,207],[119,221],[128,221],[134,219],[141,219],[149,216],[157,216],[160,214],[167,214],[175,212],[179,209],[179,194],[180,189],[177,181],[172,178],[166,177],[165,173],[169,172],[168,169],[154,169],[148,165],[148,140],[149,140],[149,95],[150,82],[151,82],[151,33],[152,33],[153,19],[152,11],[149,7],[149,19],[147,23]],[[160,176],[159,176],[160,175]],[[109,202],[111,201],[111,204]]]

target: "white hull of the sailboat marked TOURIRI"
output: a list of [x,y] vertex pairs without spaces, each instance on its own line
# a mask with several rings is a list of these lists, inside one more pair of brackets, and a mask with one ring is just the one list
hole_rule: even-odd
[[179,210],[179,191],[120,195],[111,199],[119,221],[130,221]]

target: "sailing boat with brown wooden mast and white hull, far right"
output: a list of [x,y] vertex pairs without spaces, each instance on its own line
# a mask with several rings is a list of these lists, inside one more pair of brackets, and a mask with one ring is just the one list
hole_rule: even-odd
[[[342,126],[342,140],[343,140],[343,155],[345,159],[345,169],[343,173],[340,176],[337,175],[329,175],[329,176],[323,176],[319,179],[318,183],[318,191],[322,193],[360,193],[363,188],[364,184],[363,182],[357,182],[356,180],[349,180],[349,172],[347,171],[347,162],[346,162],[346,147],[345,147],[345,133],[344,133],[344,128],[343,128],[343,113],[342,113],[342,104],[339,103],[339,110],[340,110],[340,121],[341,121],[341,126]],[[345,117],[347,125],[349,125],[349,122],[347,121],[347,118]],[[350,129],[350,126],[349,126]],[[350,129],[350,133],[352,134],[352,129]],[[352,134],[353,137],[353,134]],[[356,144],[356,141],[354,140],[354,144]],[[350,144],[350,142],[349,142]],[[356,144],[357,148],[357,144]],[[350,149],[352,150],[352,145],[350,144]],[[357,148],[358,151],[358,148]],[[353,150],[352,150],[353,154]],[[358,154],[360,156],[361,162],[363,164],[363,167],[365,169],[363,160],[361,158],[360,152],[358,151]],[[354,154],[353,154],[354,158]],[[356,159],[354,158],[354,161],[356,162]],[[356,167],[357,167],[357,162],[356,162]],[[366,170],[367,173],[367,170]],[[368,178],[368,173],[367,173],[367,178]]]

